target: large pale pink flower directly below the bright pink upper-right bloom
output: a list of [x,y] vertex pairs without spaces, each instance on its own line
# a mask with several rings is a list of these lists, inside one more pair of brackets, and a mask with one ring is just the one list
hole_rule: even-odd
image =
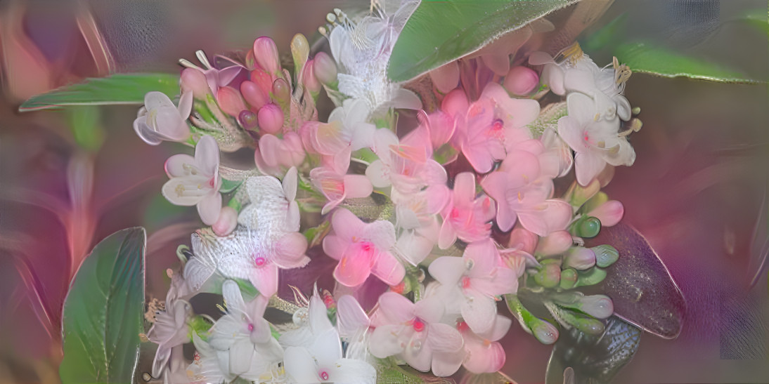
[[544,152],[541,142],[527,141],[525,147],[511,151],[499,170],[485,177],[481,186],[497,202],[497,225],[501,230],[510,230],[518,218],[527,230],[546,236],[566,228],[571,205],[551,199],[553,180],[542,175],[540,167],[539,155]]

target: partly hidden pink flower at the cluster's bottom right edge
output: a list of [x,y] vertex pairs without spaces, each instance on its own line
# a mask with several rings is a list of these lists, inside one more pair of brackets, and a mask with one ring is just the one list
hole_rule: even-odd
[[504,366],[506,356],[498,341],[508,333],[512,320],[501,315],[495,317],[494,326],[485,333],[474,333],[464,322],[457,324],[464,339],[464,350],[467,351],[462,366],[470,372],[498,372]]

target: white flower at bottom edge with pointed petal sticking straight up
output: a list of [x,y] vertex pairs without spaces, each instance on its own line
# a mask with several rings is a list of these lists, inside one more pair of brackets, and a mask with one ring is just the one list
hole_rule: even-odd
[[286,346],[284,366],[292,382],[376,382],[376,370],[368,362],[342,356],[339,333],[317,288],[310,298],[307,323],[284,333],[280,341]]

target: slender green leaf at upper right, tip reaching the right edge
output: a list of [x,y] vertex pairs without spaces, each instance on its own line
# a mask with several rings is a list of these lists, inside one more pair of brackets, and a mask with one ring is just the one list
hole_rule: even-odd
[[620,45],[614,50],[614,55],[634,72],[654,74],[664,78],[694,78],[737,84],[764,83],[720,65],[681,55],[647,42]]

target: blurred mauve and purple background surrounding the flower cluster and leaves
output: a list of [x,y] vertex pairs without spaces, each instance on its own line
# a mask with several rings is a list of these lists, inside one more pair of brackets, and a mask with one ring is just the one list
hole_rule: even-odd
[[[177,245],[199,226],[195,210],[160,195],[165,159],[188,149],[140,141],[137,107],[20,114],[18,105],[85,77],[178,73],[178,58],[197,49],[248,49],[261,35],[283,54],[298,32],[323,48],[317,28],[333,8],[368,2],[0,1],[0,383],[58,382],[62,303],[95,243],[146,227],[147,292],[162,299]],[[767,20],[742,22],[751,10],[766,16],[767,2],[616,0],[586,34],[625,15],[631,38],[767,80]],[[611,62],[608,51],[588,54]],[[767,86],[634,74],[626,95],[644,121],[632,137],[638,160],[618,168],[606,192],[667,264],[688,311],[677,339],[644,333],[615,382],[769,382]],[[505,343],[504,371],[544,382],[551,347],[518,326]]]

